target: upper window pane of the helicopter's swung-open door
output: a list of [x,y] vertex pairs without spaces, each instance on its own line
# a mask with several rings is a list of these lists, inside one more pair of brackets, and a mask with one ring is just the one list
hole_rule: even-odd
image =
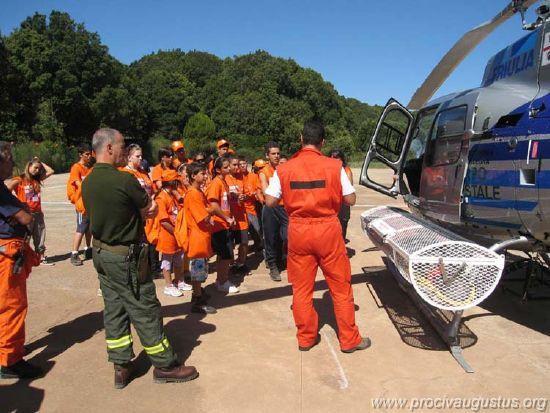
[[409,126],[409,118],[400,110],[388,112],[376,135],[378,153],[390,162],[397,162]]

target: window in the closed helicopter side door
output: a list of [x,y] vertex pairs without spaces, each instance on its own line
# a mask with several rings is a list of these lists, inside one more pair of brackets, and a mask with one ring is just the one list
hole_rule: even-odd
[[431,131],[428,165],[449,165],[458,161],[467,113],[467,106],[439,112]]

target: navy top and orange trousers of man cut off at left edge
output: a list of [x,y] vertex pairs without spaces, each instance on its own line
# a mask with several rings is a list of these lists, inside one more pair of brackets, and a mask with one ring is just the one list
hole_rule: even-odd
[[[8,222],[23,205],[2,182],[0,186],[0,365],[8,367],[24,355],[27,277],[31,268],[40,263],[40,256],[23,240],[24,227]],[[13,274],[21,251],[25,261],[19,273]]]

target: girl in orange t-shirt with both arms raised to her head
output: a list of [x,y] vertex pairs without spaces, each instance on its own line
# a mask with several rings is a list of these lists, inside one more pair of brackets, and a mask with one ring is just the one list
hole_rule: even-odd
[[41,162],[37,157],[28,162],[25,172],[7,182],[6,186],[15,196],[27,206],[33,220],[29,226],[32,236],[34,250],[40,254],[40,264],[54,265],[49,263],[44,255],[46,252],[46,224],[42,212],[41,186],[42,182],[52,176],[54,170]]

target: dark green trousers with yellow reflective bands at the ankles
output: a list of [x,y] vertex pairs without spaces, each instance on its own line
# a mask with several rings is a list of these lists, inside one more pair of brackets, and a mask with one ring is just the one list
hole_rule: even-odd
[[169,367],[176,354],[164,335],[160,302],[151,278],[137,283],[136,262],[125,255],[93,249],[94,266],[105,302],[103,320],[109,361],[126,364],[134,358],[130,322],[155,367]]

